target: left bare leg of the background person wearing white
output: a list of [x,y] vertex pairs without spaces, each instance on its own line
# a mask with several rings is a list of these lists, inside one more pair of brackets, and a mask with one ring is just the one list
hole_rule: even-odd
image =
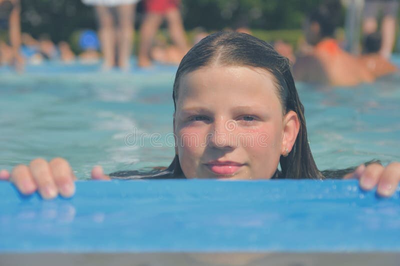
[[99,22],[99,36],[104,62],[103,69],[107,70],[115,65],[115,32],[111,10],[105,6],[96,6]]

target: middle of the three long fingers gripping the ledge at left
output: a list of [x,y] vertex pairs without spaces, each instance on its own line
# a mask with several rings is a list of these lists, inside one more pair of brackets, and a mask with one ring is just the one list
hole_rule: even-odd
[[55,198],[58,191],[48,163],[43,159],[35,159],[30,162],[29,169],[43,199]]

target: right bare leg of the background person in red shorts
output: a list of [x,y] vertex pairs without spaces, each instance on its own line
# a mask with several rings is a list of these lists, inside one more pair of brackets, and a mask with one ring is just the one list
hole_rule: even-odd
[[188,51],[187,41],[184,33],[182,17],[178,9],[170,9],[165,14],[168,21],[168,30],[172,41],[182,52],[182,56]]

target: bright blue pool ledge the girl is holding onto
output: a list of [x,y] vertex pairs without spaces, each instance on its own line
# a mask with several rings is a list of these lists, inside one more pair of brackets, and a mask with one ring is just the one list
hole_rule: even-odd
[[80,181],[71,199],[0,182],[0,253],[400,251],[399,190],[356,181]]

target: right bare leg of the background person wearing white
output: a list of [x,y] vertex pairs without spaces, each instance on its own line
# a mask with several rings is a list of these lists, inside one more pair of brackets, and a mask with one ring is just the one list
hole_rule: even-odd
[[129,58],[132,51],[134,34],[135,4],[123,4],[118,6],[118,66],[120,69],[129,68]]

